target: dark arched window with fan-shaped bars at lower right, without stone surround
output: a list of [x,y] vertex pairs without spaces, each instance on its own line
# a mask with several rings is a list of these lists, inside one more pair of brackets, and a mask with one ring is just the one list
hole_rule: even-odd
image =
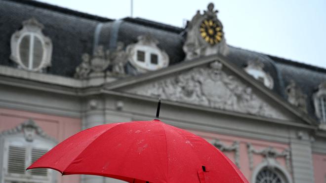
[[256,176],[255,183],[287,183],[283,176],[272,169],[263,168]]

